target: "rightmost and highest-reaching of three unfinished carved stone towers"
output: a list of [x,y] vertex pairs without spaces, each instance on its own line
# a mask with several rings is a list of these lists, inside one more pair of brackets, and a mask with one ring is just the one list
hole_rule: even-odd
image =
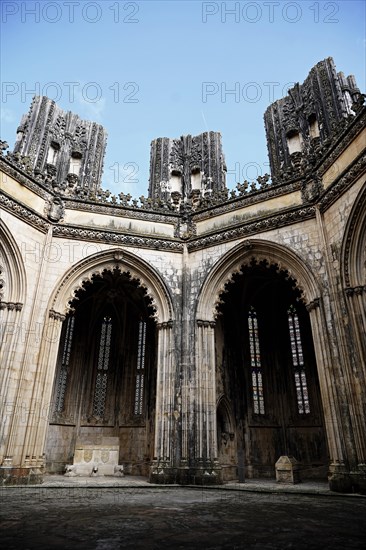
[[311,157],[319,158],[349,116],[360,96],[353,76],[337,73],[329,57],[313,67],[303,84],[295,84],[264,115],[272,180],[291,177]]

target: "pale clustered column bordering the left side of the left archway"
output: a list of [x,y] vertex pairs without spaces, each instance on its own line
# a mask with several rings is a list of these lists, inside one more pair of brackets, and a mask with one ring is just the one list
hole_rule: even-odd
[[44,467],[44,443],[49,421],[53,378],[62,321],[65,316],[50,311],[44,326],[42,344],[33,383],[27,402],[20,391],[14,403],[4,466],[0,475],[4,483],[39,483]]

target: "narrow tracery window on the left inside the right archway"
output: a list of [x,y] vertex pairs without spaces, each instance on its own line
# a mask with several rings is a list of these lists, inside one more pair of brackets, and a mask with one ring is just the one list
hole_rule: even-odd
[[257,313],[253,307],[248,313],[250,367],[252,374],[253,410],[255,414],[264,414],[264,395],[262,364],[259,348]]

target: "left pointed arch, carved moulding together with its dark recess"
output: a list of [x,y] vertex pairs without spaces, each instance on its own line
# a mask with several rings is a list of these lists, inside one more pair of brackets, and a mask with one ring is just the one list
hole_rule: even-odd
[[48,368],[47,468],[59,472],[72,460],[76,441],[96,446],[101,436],[115,438],[119,464],[147,475],[160,433],[157,380],[171,349],[161,329],[174,319],[164,280],[131,252],[100,252],[62,277],[49,312],[63,322],[60,339],[52,339],[52,376]]

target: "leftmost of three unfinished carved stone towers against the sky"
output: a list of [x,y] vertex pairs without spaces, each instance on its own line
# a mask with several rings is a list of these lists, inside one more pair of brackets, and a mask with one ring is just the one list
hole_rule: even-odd
[[36,175],[66,193],[77,188],[88,196],[100,188],[105,148],[102,126],[36,96],[17,130],[14,153],[28,156]]

